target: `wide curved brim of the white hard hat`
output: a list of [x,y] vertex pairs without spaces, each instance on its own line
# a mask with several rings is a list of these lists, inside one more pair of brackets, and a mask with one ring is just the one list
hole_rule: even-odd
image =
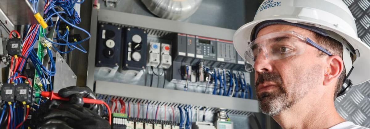
[[[307,23],[307,24],[313,24],[319,28],[326,29],[329,31],[336,32],[338,35],[342,36],[344,39],[346,39],[347,42],[350,43],[351,46],[353,46],[354,50],[356,50],[357,59],[353,62],[353,71],[349,76],[349,79],[352,80],[353,85],[361,84],[365,81],[368,81],[370,79],[370,47],[362,42],[360,38],[353,37],[350,35],[347,35],[346,32],[338,31],[337,29],[333,28],[333,26],[327,26],[322,25],[320,22],[313,22],[309,20],[303,20],[298,18],[266,18],[261,20],[256,20],[249,22],[242,27],[240,27],[238,30],[236,30],[234,36],[233,36],[233,44],[238,52],[238,54],[244,59],[244,52],[246,50],[246,45],[248,45],[248,42],[251,42],[251,36],[252,31],[255,28],[257,24],[263,21],[268,20],[285,20],[288,22],[293,23]],[[357,53],[358,52],[358,53]]]

